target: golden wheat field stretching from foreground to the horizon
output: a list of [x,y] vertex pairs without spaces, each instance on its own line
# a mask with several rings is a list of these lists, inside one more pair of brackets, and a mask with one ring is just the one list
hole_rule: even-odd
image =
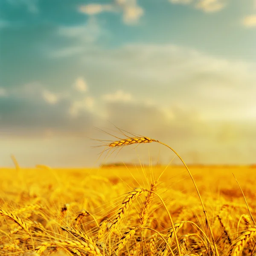
[[189,170],[208,225],[184,166],[2,168],[0,254],[256,255],[253,166]]

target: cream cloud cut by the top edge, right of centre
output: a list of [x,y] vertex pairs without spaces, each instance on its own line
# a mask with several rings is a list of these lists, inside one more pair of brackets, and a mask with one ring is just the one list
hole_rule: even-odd
[[218,12],[227,5],[227,0],[169,0],[175,4],[192,4],[195,8],[204,12]]

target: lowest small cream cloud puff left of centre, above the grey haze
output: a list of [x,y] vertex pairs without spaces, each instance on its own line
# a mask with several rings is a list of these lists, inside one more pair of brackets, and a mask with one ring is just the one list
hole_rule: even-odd
[[69,109],[71,116],[78,116],[83,111],[93,111],[95,99],[92,96],[84,97],[81,100],[75,100]]

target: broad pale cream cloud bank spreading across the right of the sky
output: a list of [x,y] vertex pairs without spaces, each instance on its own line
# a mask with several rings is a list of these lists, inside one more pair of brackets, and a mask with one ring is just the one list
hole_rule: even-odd
[[[105,81],[105,102],[134,101],[132,95],[154,96],[154,102],[166,108],[177,103],[191,105],[205,119],[221,120],[250,119],[256,107],[256,66],[252,63],[168,44],[134,44],[98,49],[84,56],[83,64],[102,73],[95,84]],[[129,93],[116,91],[119,79]]]

